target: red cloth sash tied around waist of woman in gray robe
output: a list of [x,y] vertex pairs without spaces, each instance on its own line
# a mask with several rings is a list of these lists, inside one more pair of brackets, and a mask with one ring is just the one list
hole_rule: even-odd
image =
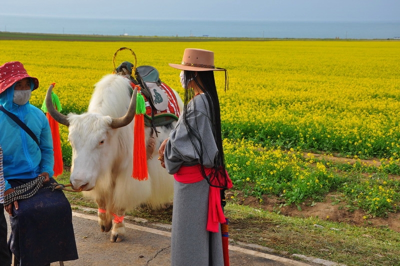
[[[184,184],[191,184],[200,182],[203,180],[203,176],[200,172],[200,165],[194,166],[181,166],[177,173],[173,175],[176,181]],[[205,168],[205,174],[208,176],[210,175],[214,169],[213,168]],[[230,180],[229,176],[227,180],[227,188],[232,187],[232,181]],[[213,180],[213,185],[218,185],[217,180]],[[221,194],[220,194],[219,187],[209,186],[209,193],[208,193],[208,216],[207,216],[207,226],[206,230],[210,232],[218,232],[219,230],[219,223],[224,223],[226,221],[225,216],[223,215],[222,207],[221,207]]]

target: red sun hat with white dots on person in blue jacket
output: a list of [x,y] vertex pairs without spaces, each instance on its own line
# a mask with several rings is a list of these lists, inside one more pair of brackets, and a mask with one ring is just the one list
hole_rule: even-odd
[[39,87],[39,81],[26,73],[22,63],[12,61],[3,64],[0,66],[0,93],[11,87],[15,82],[24,78],[32,79],[33,90],[36,90]]

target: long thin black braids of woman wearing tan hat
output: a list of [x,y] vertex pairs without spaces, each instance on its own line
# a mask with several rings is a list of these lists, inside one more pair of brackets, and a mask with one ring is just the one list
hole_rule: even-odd
[[[228,79],[227,72],[225,71],[225,88],[224,91],[228,88]],[[193,88],[188,88],[188,83],[190,80],[193,80],[197,86],[200,88],[202,93],[204,93],[205,98],[208,102],[209,110],[207,110],[207,115],[210,126],[212,129],[212,135],[214,137],[215,144],[218,149],[218,154],[214,158],[213,162],[213,170],[212,174],[207,177],[203,167],[203,156],[207,156],[203,147],[203,141],[201,139],[201,132],[197,131],[197,128],[193,128],[190,126],[188,118],[186,116],[188,112],[188,103],[194,97]],[[220,187],[223,189],[227,189],[227,174],[225,171],[225,160],[223,155],[222,148],[222,136],[221,136],[221,117],[220,117],[220,108],[219,108],[219,100],[218,94],[215,86],[215,79],[213,71],[184,71],[184,85],[185,85],[185,93],[184,93],[184,107],[183,107],[183,117],[182,122],[185,125],[188,136],[190,138],[190,142],[192,143],[193,149],[199,155],[199,164],[201,175],[204,179],[207,180],[210,186]],[[193,102],[193,109],[196,110],[195,104]]]

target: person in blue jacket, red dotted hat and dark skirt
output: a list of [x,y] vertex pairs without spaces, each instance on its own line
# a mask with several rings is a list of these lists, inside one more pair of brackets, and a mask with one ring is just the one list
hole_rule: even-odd
[[[8,246],[20,266],[77,259],[69,202],[62,191],[49,189],[50,183],[55,183],[50,126],[45,114],[29,103],[38,86],[37,78],[30,77],[20,62],[0,66],[4,197],[15,187],[43,178],[42,187],[34,195],[4,204],[11,224]],[[9,113],[19,118],[34,136],[11,119]]]

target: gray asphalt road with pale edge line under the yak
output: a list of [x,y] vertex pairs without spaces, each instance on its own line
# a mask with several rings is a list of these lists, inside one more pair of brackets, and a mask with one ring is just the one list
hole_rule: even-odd
[[[8,214],[4,212],[8,221]],[[72,265],[170,265],[170,225],[129,223],[125,221],[126,234],[122,242],[109,241],[110,233],[100,231],[97,215],[89,212],[72,212],[79,258],[64,261]],[[8,224],[8,234],[10,228]],[[229,244],[230,265],[317,265],[306,264],[286,257]],[[51,266],[59,263],[51,263]]]

